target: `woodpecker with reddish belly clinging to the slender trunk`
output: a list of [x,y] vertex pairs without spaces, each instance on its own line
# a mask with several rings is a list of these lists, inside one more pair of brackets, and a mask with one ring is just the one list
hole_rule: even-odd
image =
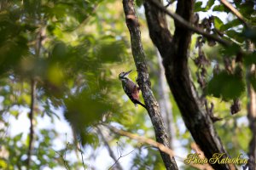
[[[131,70],[132,71],[132,70]],[[131,99],[134,105],[142,105],[146,109],[146,105],[143,105],[139,100],[139,92],[140,88],[137,86],[136,83],[132,82],[128,75],[131,71],[121,72],[119,74],[119,80],[122,82],[123,89],[125,94]]]

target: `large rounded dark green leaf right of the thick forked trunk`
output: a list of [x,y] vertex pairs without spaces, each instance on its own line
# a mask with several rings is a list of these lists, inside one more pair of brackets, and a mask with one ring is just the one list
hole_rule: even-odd
[[245,82],[241,77],[221,71],[207,84],[207,94],[224,100],[236,99],[245,91]]

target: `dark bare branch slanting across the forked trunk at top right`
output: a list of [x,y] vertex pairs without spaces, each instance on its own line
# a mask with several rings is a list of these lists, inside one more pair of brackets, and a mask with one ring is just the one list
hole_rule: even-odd
[[191,25],[187,20],[184,20],[183,17],[181,17],[178,14],[170,12],[162,4],[156,2],[155,0],[148,0],[148,1],[153,3],[155,7],[160,8],[160,10],[163,11],[164,13],[171,16],[173,20],[176,20],[179,24],[187,27],[190,31],[194,31],[195,33],[201,34],[202,36],[207,37],[209,39],[212,39],[216,42],[219,42],[220,44],[222,44],[224,46],[230,46],[231,45],[230,42],[227,42],[224,39],[221,39],[221,38],[216,37],[212,34],[209,34],[206,31],[203,31],[201,28],[198,28],[198,27],[195,27],[195,26]]

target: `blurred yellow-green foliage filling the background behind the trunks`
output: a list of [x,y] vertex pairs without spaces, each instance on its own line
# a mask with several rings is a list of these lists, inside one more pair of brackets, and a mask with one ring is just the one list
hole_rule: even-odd
[[[138,7],[143,5],[142,0],[136,3]],[[195,12],[212,10],[230,13],[213,0],[208,1],[205,7],[202,4],[201,1],[195,3]],[[235,1],[234,5],[247,23],[255,26],[255,4]],[[143,16],[142,11],[138,11],[139,16]],[[146,21],[143,17],[140,20],[152,87],[160,99],[156,90],[159,82],[156,52],[145,36],[148,34],[145,31]],[[58,116],[61,112],[73,128],[75,139],[81,140],[84,146],[84,149],[79,150],[81,152],[101,151],[101,146],[106,146],[95,130],[101,122],[154,138],[154,129],[146,111],[140,107],[134,108],[122,92],[117,78],[120,71],[135,67],[124,23],[122,5],[115,0],[0,2],[1,168],[26,167],[29,133],[11,135],[8,127],[15,125],[9,124],[8,117],[19,119],[20,115],[30,111],[32,80],[37,82],[34,119],[47,116],[54,124],[55,120],[60,119]],[[218,14],[201,19],[199,26],[214,36],[232,42],[230,48],[225,48],[205,37],[196,36],[191,45],[191,51],[194,52],[191,58],[194,59],[189,60],[189,66],[195,87],[215,105],[214,115],[224,118],[215,126],[231,156],[236,156],[240,152],[237,148],[247,152],[249,140],[247,124],[241,120],[246,114],[247,83],[256,90],[255,71],[248,75],[246,72],[251,65],[256,64],[256,53],[247,52],[247,41],[256,42],[256,31],[252,27],[242,26],[235,16],[223,20]],[[241,54],[241,61],[239,49],[246,52]],[[131,79],[135,80],[135,77],[136,71],[131,73]],[[199,77],[204,79],[204,83]],[[233,99],[241,99],[241,111],[236,116],[230,116],[230,102]],[[171,101],[174,116],[172,123],[177,127],[176,138],[181,141],[179,146],[189,152],[189,144],[193,139],[182,126],[182,118],[172,96]],[[35,128],[39,129],[37,126],[38,122],[35,121]],[[73,139],[63,139],[62,146],[55,150],[52,141],[60,136],[61,133],[54,128],[35,131],[32,169],[83,167],[79,156],[75,161],[65,159],[66,154],[76,152],[80,155]],[[124,140],[124,145],[131,144],[137,148],[136,142],[120,139],[116,134],[109,134],[107,139],[111,148],[114,148],[116,140]],[[85,167],[90,167],[90,161],[93,161],[89,157],[86,158]],[[143,148],[131,156],[131,167],[163,169],[163,164],[157,150]]]

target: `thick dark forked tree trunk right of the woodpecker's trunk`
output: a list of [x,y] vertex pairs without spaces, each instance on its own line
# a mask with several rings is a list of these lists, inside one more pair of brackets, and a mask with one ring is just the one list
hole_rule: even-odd
[[[166,24],[166,16],[151,1],[144,3],[149,35],[159,49],[166,70],[166,79],[174,99],[196,144],[208,159],[214,153],[226,153],[223,144],[207,115],[195,86],[189,77],[188,51],[192,32],[175,21],[172,37]],[[158,0],[158,3],[162,3]],[[193,17],[193,0],[178,0],[176,14],[190,22]],[[234,165],[212,164],[214,169],[235,169]]]

